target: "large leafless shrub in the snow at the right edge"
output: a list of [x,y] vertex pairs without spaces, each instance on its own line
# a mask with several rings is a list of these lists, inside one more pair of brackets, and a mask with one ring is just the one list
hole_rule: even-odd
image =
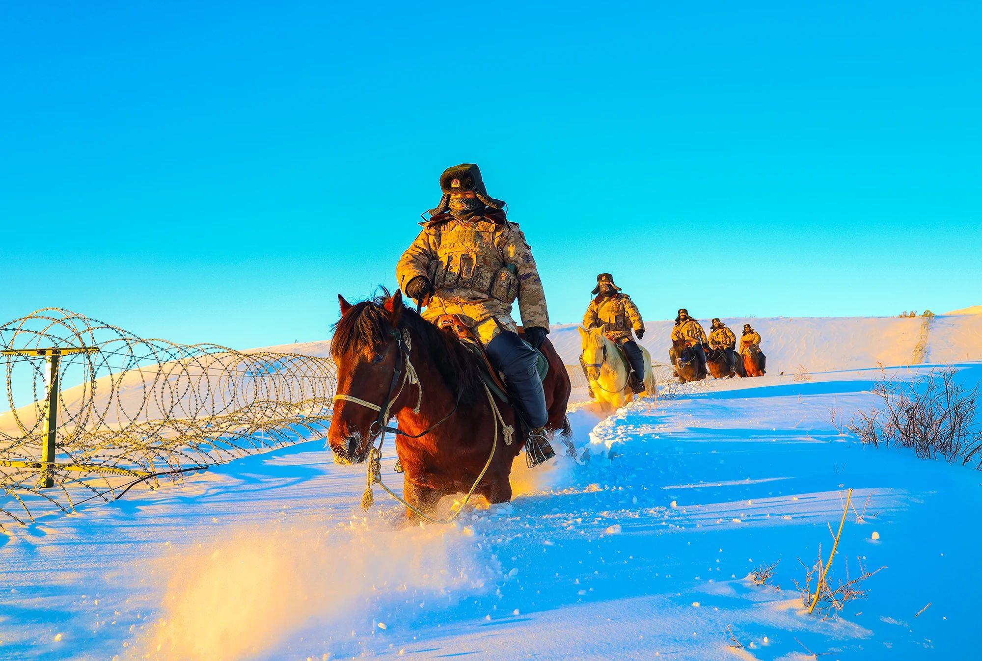
[[914,381],[882,378],[873,388],[882,406],[847,425],[864,443],[900,445],[922,459],[943,457],[982,469],[982,430],[975,422],[978,385],[955,381],[953,367]]

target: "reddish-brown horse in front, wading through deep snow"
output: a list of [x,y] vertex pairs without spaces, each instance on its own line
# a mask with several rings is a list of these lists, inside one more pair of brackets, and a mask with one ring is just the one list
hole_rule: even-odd
[[[397,433],[396,452],[409,505],[433,512],[443,496],[469,491],[486,463],[474,493],[492,503],[511,500],[512,462],[527,431],[513,409],[498,400],[494,403],[501,419],[496,420],[493,395],[481,379],[477,360],[457,335],[437,329],[407,308],[399,291],[355,305],[340,295],[338,299],[341,320],[331,343],[338,396],[327,436],[338,462],[363,462],[395,417],[399,430],[388,431]],[[549,362],[543,383],[549,410],[546,429],[569,436],[570,377],[548,339],[541,351]],[[503,432],[504,426],[515,430],[514,440]],[[415,516],[411,510],[408,515]]]

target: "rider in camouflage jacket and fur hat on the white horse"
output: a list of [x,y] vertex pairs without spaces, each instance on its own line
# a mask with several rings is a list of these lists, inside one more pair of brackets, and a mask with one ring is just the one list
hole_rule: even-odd
[[[596,295],[583,315],[583,326],[587,329],[602,329],[611,341],[621,345],[630,365],[630,389],[635,394],[644,392],[644,354],[634,341],[631,330],[638,339],[644,337],[644,322],[630,296],[619,293],[621,287],[614,284],[609,273],[597,276]],[[585,368],[584,368],[585,369]],[[590,396],[593,392],[590,391]]]

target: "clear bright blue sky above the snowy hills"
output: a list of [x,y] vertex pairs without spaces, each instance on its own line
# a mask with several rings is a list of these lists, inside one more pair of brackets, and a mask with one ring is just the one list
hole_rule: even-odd
[[982,303],[975,2],[0,6],[0,322],[328,335],[475,162],[555,323]]

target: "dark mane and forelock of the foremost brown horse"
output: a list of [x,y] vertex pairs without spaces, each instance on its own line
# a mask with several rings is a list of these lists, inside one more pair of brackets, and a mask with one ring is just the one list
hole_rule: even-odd
[[[382,307],[389,298],[389,292],[384,288],[382,292],[374,299],[355,303],[334,325],[331,356],[335,362],[366,346],[387,341],[393,329],[390,314]],[[412,352],[421,348],[429,356],[447,387],[461,393],[462,403],[476,401],[482,384],[477,360],[456,335],[440,331],[406,306],[403,307],[399,327],[411,334]]]

